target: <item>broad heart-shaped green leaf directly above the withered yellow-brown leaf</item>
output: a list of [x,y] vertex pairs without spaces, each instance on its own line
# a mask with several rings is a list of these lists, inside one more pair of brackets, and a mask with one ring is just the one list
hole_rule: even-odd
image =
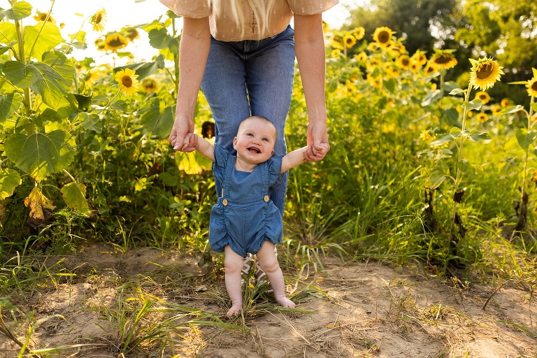
[[73,145],[71,135],[57,129],[48,134],[13,134],[6,139],[4,150],[17,168],[34,180],[41,181],[51,173],[66,169],[73,162]]

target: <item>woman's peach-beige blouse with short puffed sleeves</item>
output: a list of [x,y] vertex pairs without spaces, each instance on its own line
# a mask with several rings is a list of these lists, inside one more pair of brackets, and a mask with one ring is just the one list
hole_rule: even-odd
[[[210,0],[160,0],[177,15],[199,19],[209,17],[210,34],[220,41],[261,40],[280,34],[296,15],[314,15],[322,13],[339,0],[275,0],[271,22],[267,29],[259,27],[252,19],[246,31],[238,29],[231,15],[231,6],[225,6],[220,14],[214,14]],[[222,3],[226,3],[222,1]],[[244,4],[245,18],[252,17],[248,3]],[[259,33],[262,31],[262,33]]]

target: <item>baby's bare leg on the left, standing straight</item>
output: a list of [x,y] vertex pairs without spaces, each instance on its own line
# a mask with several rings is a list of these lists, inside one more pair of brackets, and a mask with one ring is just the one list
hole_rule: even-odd
[[243,257],[238,255],[231,246],[224,247],[224,267],[226,268],[226,289],[231,299],[231,308],[227,311],[228,316],[238,315],[243,308],[243,293],[241,292],[241,269]]

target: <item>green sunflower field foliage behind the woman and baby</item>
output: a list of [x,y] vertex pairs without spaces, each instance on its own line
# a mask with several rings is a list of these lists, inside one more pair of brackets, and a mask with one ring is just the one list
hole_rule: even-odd
[[[178,17],[168,12],[138,27],[159,50],[151,62],[132,59],[113,68],[71,57],[74,48],[87,45],[83,31],[64,39],[57,24],[48,21],[21,31],[33,8],[26,1],[10,4],[0,9],[0,255],[6,258],[23,248],[76,250],[87,238],[120,248],[208,251],[215,202],[210,162],[173,152],[166,141],[178,88]],[[379,9],[385,8],[382,4]],[[450,9],[445,4],[442,9],[429,8],[424,16],[444,23]],[[475,13],[466,5],[457,9],[473,26],[482,21],[471,17]],[[506,15],[487,15],[497,20],[497,33],[505,34]],[[360,24],[359,18],[353,21]],[[469,103],[461,94],[471,89],[459,89],[468,85],[467,59],[449,71],[426,72],[424,64],[401,67],[399,57],[415,51],[394,54],[371,47],[374,26],[371,21],[363,39],[355,36],[354,27],[326,33],[331,150],[322,162],[289,173],[285,239],[290,252],[301,260],[306,254],[310,261],[315,260],[311,252],[333,250],[350,259],[417,259],[439,268],[480,264],[473,267],[487,271],[503,260],[498,252],[516,245],[522,260],[529,260],[536,250],[535,137],[532,120],[521,110],[533,110],[524,87],[503,111],[500,102],[509,97],[507,91],[484,105]],[[408,38],[396,41],[410,43],[412,31],[404,31]],[[474,50],[475,34],[468,27],[456,31]],[[355,43],[345,46],[345,36],[354,36]],[[478,56],[496,55],[492,42],[497,37],[491,36]],[[434,48],[430,38],[419,41],[427,42],[428,51]],[[413,43],[414,48],[420,46]],[[115,56],[129,57],[127,49]],[[361,52],[365,57],[359,57]],[[515,71],[529,62],[518,52],[509,53],[498,55],[508,64],[500,63],[504,71],[530,80],[531,71]],[[141,82],[132,96],[122,94],[115,81],[115,73],[126,68],[136,71]],[[143,85],[144,80],[154,85]],[[526,93],[522,101],[520,93]],[[470,110],[468,131],[460,130],[464,107]],[[489,119],[478,121],[478,113]],[[200,94],[196,128],[210,120]],[[286,133],[290,150],[304,145],[307,122],[297,69]],[[517,137],[521,129],[524,139]],[[464,160],[457,162],[463,139],[468,139]],[[457,168],[465,191],[458,210],[468,231],[454,245],[449,234]],[[513,206],[520,202],[522,183],[529,183],[528,224],[524,239],[513,241],[509,228],[518,220]]]

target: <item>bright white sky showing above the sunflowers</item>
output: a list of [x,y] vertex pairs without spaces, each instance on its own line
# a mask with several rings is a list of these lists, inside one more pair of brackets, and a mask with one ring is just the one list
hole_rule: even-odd
[[[41,13],[47,13],[50,10],[52,0],[26,0],[33,7],[32,15],[39,10]],[[138,1],[138,2],[137,2]],[[101,56],[103,52],[94,50],[93,43],[101,33],[92,31],[92,26],[89,23],[88,17],[96,13],[97,10],[104,8],[106,10],[106,23],[104,23],[104,31],[114,31],[121,29],[127,25],[139,25],[152,22],[159,16],[166,13],[166,6],[159,3],[158,0],[55,0],[54,8],[52,8],[52,17],[58,22],[64,22],[65,27],[62,29],[62,36],[65,39],[69,37],[67,34],[75,34],[82,26],[83,31],[86,31],[88,43],[87,50],[76,50],[73,56],[76,59],[87,57]],[[328,22],[333,27],[340,27],[345,20],[348,19],[349,12],[346,8],[348,5],[363,3],[364,0],[340,0],[339,5],[334,6],[323,14],[323,20]],[[0,0],[0,8],[10,8],[8,0]],[[76,13],[83,16],[75,15]],[[86,20],[84,22],[84,20]],[[83,23],[84,22],[84,23]],[[23,24],[34,24],[32,17],[24,19]],[[157,50],[148,45],[148,38],[145,31],[140,31],[140,39],[129,45],[127,50],[134,53],[136,59],[150,60]],[[96,58],[95,58],[96,59]],[[97,61],[99,62],[99,61]]]

